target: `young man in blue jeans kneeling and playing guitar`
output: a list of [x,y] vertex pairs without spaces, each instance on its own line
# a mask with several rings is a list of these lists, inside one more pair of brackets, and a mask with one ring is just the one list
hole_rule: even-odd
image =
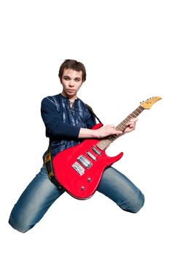
[[[135,129],[136,118],[128,122],[123,132],[117,131],[112,124],[91,129],[96,124],[95,117],[85,103],[77,98],[77,92],[86,79],[84,65],[67,59],[61,64],[58,75],[63,86],[61,94],[42,99],[41,108],[46,136],[50,138],[52,159],[58,152],[81,143],[82,139],[120,136]],[[117,203],[124,211],[136,213],[144,204],[142,192],[111,166],[104,170],[97,190]],[[12,209],[9,224],[25,233],[42,219],[48,208],[63,192],[63,189],[59,189],[50,181],[43,165]]]

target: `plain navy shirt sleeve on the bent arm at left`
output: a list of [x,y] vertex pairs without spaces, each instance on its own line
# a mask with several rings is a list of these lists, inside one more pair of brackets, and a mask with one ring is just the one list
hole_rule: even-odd
[[48,97],[42,99],[41,115],[45,123],[47,137],[78,138],[80,127],[63,123],[60,111],[57,110],[53,100]]

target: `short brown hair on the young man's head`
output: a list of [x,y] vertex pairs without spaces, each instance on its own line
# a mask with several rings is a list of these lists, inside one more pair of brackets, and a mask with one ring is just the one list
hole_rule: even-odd
[[81,62],[76,61],[74,59],[66,59],[65,61],[63,61],[63,64],[61,64],[61,67],[58,72],[58,76],[59,76],[60,80],[63,76],[63,69],[73,69],[78,72],[82,71],[82,82],[85,82],[86,70],[85,70],[85,66]]

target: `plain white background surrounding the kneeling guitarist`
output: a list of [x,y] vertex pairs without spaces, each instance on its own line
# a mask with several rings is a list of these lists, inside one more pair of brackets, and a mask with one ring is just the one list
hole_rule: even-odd
[[[169,255],[169,13],[163,0],[1,1],[1,255]],[[79,97],[104,124],[162,97],[108,149],[124,152],[115,167],[142,189],[145,205],[129,214],[98,192],[82,201],[65,193],[21,234],[9,214],[42,166],[40,104],[61,92],[65,59],[85,64]]]

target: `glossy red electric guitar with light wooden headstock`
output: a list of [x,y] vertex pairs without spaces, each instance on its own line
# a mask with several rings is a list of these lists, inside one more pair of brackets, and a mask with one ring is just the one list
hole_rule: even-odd
[[[131,118],[139,116],[144,109],[150,109],[159,99],[161,97],[152,97],[141,102],[116,129],[123,131]],[[96,124],[93,129],[101,126],[102,124]],[[94,194],[104,170],[123,156],[123,152],[116,157],[108,157],[105,153],[115,138],[116,135],[109,135],[101,140],[83,140],[79,145],[67,148],[53,158],[55,178],[66,192],[77,199],[88,199]]]

